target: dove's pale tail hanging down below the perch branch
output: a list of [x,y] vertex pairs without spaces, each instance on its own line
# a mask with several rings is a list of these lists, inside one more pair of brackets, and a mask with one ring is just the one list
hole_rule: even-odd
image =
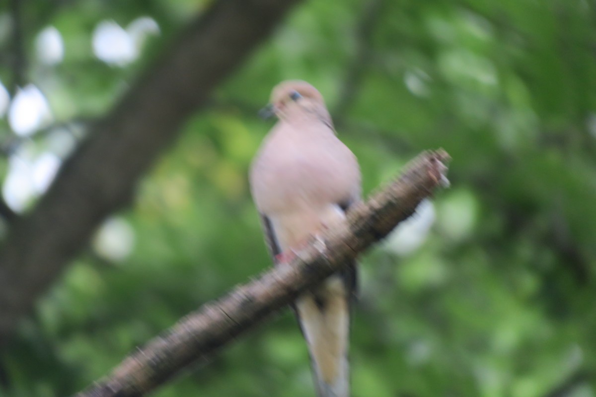
[[331,276],[300,296],[296,312],[311,355],[319,397],[349,397],[347,358],[350,328],[350,288],[342,276]]

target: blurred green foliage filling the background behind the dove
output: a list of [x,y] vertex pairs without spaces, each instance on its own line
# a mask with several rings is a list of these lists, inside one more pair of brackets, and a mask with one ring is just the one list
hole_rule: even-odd
[[[0,80],[15,92],[10,60],[22,51],[25,82],[44,93],[55,124],[17,139],[4,116],[0,145],[60,153],[55,135],[80,139],[80,124],[110,110],[204,3],[28,2],[15,43],[4,2]],[[117,66],[94,56],[98,23],[142,16],[160,34],[141,57]],[[271,127],[256,110],[289,78],[327,99],[365,193],[423,149],[443,147],[454,159],[452,188],[430,206],[429,234],[410,232],[421,245],[399,251],[406,232],[362,258],[353,395],[596,395],[595,18],[586,0],[297,8],[188,121],[119,215],[132,252],[110,256],[96,241],[23,321],[0,354],[0,395],[76,392],[268,266],[246,175]],[[64,41],[55,65],[36,55],[47,26]],[[2,175],[18,153],[0,159]],[[284,311],[156,396],[291,397],[312,387],[305,343]]]

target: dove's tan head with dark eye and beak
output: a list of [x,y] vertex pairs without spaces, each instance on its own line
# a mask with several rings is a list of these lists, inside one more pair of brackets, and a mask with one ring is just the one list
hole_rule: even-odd
[[321,93],[302,80],[287,80],[275,86],[271,92],[269,105],[260,111],[263,118],[275,115],[280,119],[311,113],[328,118]]

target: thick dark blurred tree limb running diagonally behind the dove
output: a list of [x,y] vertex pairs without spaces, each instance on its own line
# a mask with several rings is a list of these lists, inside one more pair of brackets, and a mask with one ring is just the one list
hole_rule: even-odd
[[0,345],[101,221],[128,204],[182,123],[299,1],[213,3],[91,126],[37,207],[14,222],[0,251]]

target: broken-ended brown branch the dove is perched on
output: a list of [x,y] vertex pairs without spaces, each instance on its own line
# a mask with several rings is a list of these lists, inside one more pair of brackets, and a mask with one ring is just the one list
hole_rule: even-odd
[[193,362],[205,360],[232,339],[292,302],[300,293],[339,271],[359,252],[412,215],[444,178],[440,150],[426,152],[402,177],[347,214],[347,227],[328,230],[325,248],[311,244],[288,264],[280,264],[216,302],[203,305],[171,329],[136,349],[109,377],[78,397],[141,396]]

